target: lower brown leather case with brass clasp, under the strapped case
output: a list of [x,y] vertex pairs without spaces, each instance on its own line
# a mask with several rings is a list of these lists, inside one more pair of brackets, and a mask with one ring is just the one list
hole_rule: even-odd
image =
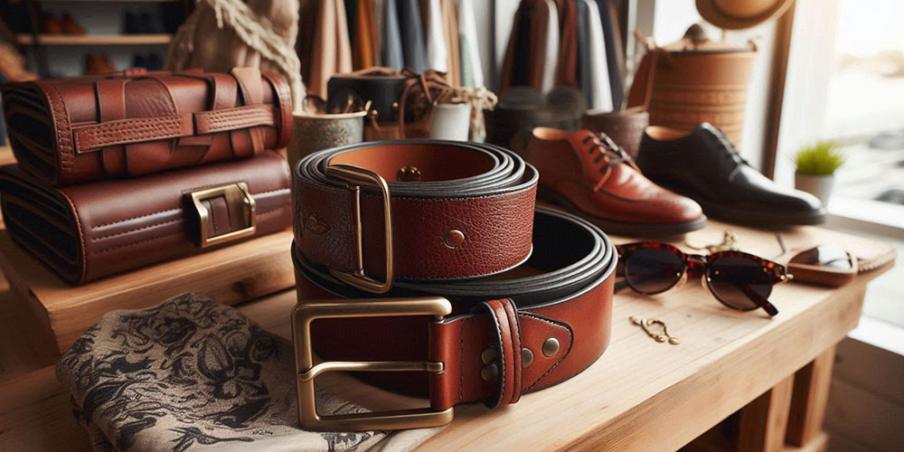
[[10,236],[71,283],[282,231],[290,204],[288,165],[272,151],[61,188],[0,168]]

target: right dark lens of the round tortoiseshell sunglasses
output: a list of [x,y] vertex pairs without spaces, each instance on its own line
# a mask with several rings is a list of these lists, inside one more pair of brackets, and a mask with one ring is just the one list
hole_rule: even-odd
[[716,259],[710,264],[708,277],[713,295],[722,303],[744,311],[759,307],[745,293],[747,288],[764,298],[772,293],[772,282],[767,273],[761,265],[750,259]]

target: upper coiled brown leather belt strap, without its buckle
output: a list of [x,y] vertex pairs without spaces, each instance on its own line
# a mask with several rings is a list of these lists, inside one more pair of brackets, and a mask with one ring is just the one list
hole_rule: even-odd
[[[437,140],[380,142],[327,149],[295,169],[293,225],[307,259],[356,268],[354,194],[328,165],[380,174],[391,193],[396,278],[474,278],[513,268],[531,254],[537,174],[511,151]],[[398,180],[416,167],[420,182]],[[385,275],[385,224],[380,192],[362,188],[364,270]],[[450,245],[447,234],[464,240]]]

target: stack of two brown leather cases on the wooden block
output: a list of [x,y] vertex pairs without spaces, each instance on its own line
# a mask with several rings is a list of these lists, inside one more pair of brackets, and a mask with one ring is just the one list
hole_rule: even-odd
[[7,230],[80,283],[285,229],[284,80],[130,71],[11,83],[18,165],[0,169]]

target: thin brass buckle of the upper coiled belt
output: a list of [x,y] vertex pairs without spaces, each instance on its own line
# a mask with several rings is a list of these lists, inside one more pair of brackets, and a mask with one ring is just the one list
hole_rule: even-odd
[[[353,233],[355,241],[355,266],[353,271],[330,268],[330,274],[352,287],[357,287],[375,294],[385,294],[392,288],[392,208],[390,187],[380,174],[353,165],[329,165],[326,174],[344,180],[354,195]],[[386,279],[382,282],[364,273],[363,226],[361,221],[361,186],[379,188],[383,199],[383,224],[386,243]]]

